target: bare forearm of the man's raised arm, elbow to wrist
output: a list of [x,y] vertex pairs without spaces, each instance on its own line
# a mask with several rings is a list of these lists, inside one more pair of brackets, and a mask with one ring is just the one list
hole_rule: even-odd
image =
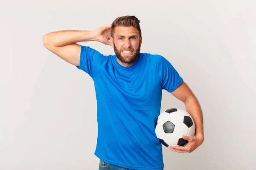
[[44,45],[51,45],[55,47],[84,41],[97,41],[96,31],[56,31],[45,34],[43,37]]

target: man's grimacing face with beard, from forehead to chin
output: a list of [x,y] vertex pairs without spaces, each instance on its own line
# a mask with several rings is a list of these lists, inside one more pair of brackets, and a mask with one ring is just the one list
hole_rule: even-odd
[[133,64],[136,62],[142,43],[137,28],[118,26],[115,28],[114,37],[111,40],[116,57],[124,64]]

